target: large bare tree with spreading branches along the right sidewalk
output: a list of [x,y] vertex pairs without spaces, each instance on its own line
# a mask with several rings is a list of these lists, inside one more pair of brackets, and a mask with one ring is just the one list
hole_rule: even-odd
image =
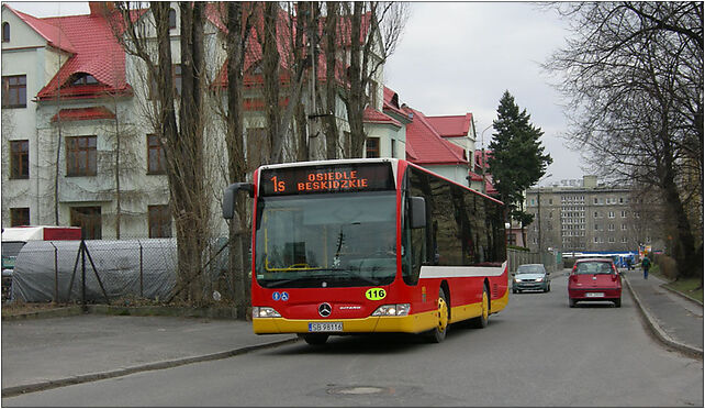
[[[659,189],[676,232],[679,276],[702,277],[702,219],[686,209],[703,213],[703,3],[558,9],[572,18],[575,36],[546,67],[564,74],[569,137],[591,148],[600,175]],[[687,184],[692,175],[697,183]]]

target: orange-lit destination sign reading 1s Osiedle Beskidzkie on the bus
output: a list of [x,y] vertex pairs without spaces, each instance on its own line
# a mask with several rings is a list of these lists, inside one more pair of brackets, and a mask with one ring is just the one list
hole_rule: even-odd
[[260,195],[309,195],[348,191],[393,190],[389,163],[338,164],[264,169]]

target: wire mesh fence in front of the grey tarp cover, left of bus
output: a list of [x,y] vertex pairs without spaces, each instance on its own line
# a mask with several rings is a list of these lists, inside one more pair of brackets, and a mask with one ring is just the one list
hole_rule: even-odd
[[[228,240],[209,241],[198,272],[204,298],[234,291]],[[177,288],[176,239],[29,241],[14,259],[11,300],[114,302],[169,300]],[[220,294],[220,292],[219,292]],[[220,296],[219,296],[220,299]]]

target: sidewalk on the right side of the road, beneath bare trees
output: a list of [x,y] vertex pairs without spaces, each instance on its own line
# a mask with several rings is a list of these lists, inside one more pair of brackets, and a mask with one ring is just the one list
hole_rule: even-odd
[[641,270],[624,270],[624,281],[647,327],[662,343],[703,358],[703,306],[663,287],[665,281]]

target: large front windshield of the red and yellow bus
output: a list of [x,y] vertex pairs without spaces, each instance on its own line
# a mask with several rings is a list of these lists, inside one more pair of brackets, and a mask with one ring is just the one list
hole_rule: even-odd
[[395,199],[394,191],[260,198],[257,283],[268,288],[392,283]]

